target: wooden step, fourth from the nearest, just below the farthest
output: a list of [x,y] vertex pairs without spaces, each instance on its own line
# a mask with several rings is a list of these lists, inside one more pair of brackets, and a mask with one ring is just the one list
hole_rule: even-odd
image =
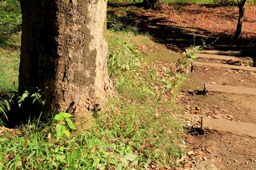
[[248,66],[253,66],[253,59],[250,57],[233,57],[233,56],[227,56],[227,55],[215,55],[215,54],[208,54],[208,53],[196,53],[196,56],[198,58],[204,58],[204,59],[215,59],[215,60],[225,60],[225,61],[231,61],[231,62],[243,62],[248,63]]

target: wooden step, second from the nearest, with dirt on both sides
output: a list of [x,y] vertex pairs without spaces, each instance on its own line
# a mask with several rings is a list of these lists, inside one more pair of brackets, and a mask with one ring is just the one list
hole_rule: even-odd
[[230,85],[212,85],[209,83],[204,84],[205,92],[227,92],[235,94],[246,94],[246,95],[256,95],[256,88],[250,87],[236,87]]

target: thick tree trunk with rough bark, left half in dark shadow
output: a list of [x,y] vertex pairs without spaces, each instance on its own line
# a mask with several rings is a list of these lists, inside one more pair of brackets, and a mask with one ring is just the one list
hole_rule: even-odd
[[38,87],[44,111],[85,113],[106,103],[106,1],[20,0],[19,92]]

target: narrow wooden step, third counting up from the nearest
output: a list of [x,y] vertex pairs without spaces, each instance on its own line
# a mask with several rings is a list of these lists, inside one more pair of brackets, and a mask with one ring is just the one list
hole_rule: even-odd
[[241,69],[246,71],[256,71],[256,67],[246,67],[246,66],[234,66],[228,64],[216,64],[216,63],[209,63],[209,62],[198,62],[193,61],[193,66],[197,67],[216,67],[216,68],[227,68],[227,69]]

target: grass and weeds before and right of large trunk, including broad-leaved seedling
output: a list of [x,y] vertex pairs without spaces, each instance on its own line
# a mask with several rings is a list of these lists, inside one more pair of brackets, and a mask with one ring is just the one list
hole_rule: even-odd
[[[156,85],[148,79],[150,73],[155,74],[154,81],[164,84],[157,67],[143,72],[144,57],[132,43],[143,38],[127,32],[108,33],[109,55],[118,53],[119,57],[109,69],[115,67],[112,78],[120,98],[99,113],[93,129],[74,137],[62,138],[76,129],[69,113],[58,113],[51,124],[25,125],[19,134],[0,134],[0,169],[147,169],[152,162],[156,167],[177,166],[176,160],[184,154],[182,125],[170,115],[168,103],[157,103],[162,89],[154,89]],[[175,75],[169,76],[176,81]],[[174,84],[172,90],[177,89]],[[40,92],[24,92],[19,100],[22,104],[34,97],[40,98]]]

